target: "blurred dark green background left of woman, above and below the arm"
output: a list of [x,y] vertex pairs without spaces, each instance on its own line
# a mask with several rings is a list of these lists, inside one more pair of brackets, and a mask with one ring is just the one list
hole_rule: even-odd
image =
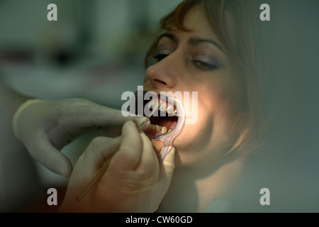
[[[180,2],[0,0],[0,82],[27,96],[77,97],[121,109],[123,92],[142,85],[159,19]],[[57,5],[57,21],[47,20],[48,4]],[[1,126],[0,211],[21,211],[67,179],[30,159],[5,129],[10,123]],[[78,153],[63,152],[77,159]]]

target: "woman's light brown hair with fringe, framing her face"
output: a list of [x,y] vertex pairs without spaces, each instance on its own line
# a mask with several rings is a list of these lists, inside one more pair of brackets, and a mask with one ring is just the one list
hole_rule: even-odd
[[[239,70],[242,87],[245,91],[242,113],[238,116],[236,126],[240,133],[233,150],[240,153],[250,153],[262,148],[262,134],[265,120],[262,115],[262,99],[259,92],[262,83],[261,42],[258,30],[259,6],[256,0],[184,0],[172,13],[162,18],[160,28],[169,30],[172,27],[187,31],[183,26],[184,16],[194,6],[203,6],[206,19],[216,37],[222,43],[230,58]],[[227,13],[227,16],[226,16]],[[229,33],[229,15],[232,18],[232,33],[235,34],[235,44]],[[145,57],[145,67],[149,65],[150,57],[157,48],[155,40]]]

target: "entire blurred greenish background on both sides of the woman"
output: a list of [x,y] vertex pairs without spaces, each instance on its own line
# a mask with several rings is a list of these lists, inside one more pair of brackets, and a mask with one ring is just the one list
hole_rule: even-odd
[[[28,96],[78,97],[121,109],[121,94],[142,85],[143,57],[159,18],[179,2],[0,0],[0,82]],[[58,21],[47,21],[51,3]],[[266,101],[273,117],[267,149],[253,156],[234,210],[319,212],[319,1],[263,3],[271,12],[260,25],[269,41]],[[67,179],[32,160],[9,127],[1,121],[0,211],[23,211]],[[76,160],[68,148],[63,152]],[[264,187],[270,206],[259,204]]]

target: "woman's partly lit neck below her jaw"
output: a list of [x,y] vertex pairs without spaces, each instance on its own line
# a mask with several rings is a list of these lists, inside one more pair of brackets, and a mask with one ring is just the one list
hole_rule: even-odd
[[202,212],[213,198],[227,200],[240,182],[245,159],[220,160],[212,166],[177,167],[159,212]]

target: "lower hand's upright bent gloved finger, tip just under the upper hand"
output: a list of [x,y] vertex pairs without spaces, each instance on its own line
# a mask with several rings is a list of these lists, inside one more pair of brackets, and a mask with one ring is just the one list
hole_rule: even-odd
[[112,158],[108,173],[117,175],[125,170],[134,170],[140,162],[141,152],[142,138],[138,128],[132,121],[127,121],[122,129],[120,149]]

